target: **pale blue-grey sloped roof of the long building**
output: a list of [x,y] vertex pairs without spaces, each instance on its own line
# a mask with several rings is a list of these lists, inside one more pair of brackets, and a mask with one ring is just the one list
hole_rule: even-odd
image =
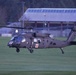
[[28,8],[19,21],[76,22],[76,8]]

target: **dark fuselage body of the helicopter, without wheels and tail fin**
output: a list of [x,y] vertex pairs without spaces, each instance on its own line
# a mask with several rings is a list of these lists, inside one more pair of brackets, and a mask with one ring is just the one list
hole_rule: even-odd
[[62,48],[67,46],[66,41],[56,40],[51,37],[14,37],[15,40],[10,40],[9,47],[16,48]]

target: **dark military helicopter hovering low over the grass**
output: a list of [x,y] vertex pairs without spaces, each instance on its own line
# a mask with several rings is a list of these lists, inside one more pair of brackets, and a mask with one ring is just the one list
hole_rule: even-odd
[[[22,27],[7,28],[25,29]],[[71,29],[71,32],[67,40],[65,41],[51,38],[49,33],[26,32],[24,34],[17,34],[13,36],[11,40],[8,42],[8,46],[16,48],[16,52],[20,52],[20,48],[27,48],[30,51],[30,53],[33,53],[34,49],[60,48],[62,54],[64,54],[64,47],[76,45],[76,41],[74,41],[75,36],[76,27],[73,27]]]

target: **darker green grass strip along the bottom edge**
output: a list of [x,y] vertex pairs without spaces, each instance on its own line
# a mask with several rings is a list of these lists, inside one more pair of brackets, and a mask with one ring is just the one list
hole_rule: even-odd
[[63,71],[17,71],[17,72],[5,72],[1,75],[76,75],[76,72],[63,72]]

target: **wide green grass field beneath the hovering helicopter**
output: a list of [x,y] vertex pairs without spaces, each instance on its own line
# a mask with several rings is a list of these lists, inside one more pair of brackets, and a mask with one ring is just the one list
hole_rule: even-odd
[[76,46],[60,49],[27,49],[16,53],[7,46],[10,38],[0,37],[0,75],[76,75]]

